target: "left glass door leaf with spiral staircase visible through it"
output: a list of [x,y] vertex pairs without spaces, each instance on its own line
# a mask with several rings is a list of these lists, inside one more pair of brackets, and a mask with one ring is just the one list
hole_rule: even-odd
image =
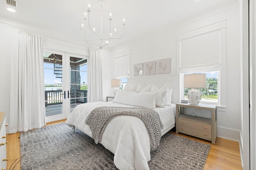
[[63,119],[62,55],[43,53],[46,122]]

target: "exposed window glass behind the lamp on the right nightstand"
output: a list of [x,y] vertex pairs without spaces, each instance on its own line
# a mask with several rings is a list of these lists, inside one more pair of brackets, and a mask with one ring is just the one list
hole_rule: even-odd
[[[205,73],[206,74],[206,88],[200,88],[199,90],[202,92],[202,100],[201,103],[218,103],[218,74],[219,71],[208,71],[208,72],[192,72],[192,73],[184,73],[181,74],[183,78],[185,74],[193,74],[193,73]],[[184,84],[182,84],[182,89],[184,89],[184,95],[182,99],[188,99],[188,90],[190,88],[184,88]]]

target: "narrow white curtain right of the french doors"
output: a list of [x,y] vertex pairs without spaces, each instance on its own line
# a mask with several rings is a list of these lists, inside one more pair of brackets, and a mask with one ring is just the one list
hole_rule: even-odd
[[102,102],[102,71],[101,71],[101,56],[100,49],[95,51],[94,47],[90,47],[90,64],[89,64],[89,101]]

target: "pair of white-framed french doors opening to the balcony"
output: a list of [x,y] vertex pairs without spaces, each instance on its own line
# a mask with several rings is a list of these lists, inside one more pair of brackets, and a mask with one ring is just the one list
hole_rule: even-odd
[[44,50],[45,121],[66,119],[79,104],[87,103],[88,57]]

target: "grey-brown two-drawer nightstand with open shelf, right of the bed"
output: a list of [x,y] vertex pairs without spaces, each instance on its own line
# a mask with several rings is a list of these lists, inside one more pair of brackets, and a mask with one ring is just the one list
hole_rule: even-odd
[[[184,114],[184,107],[211,111],[211,118]],[[184,103],[176,104],[176,133],[184,133],[215,144],[217,137],[217,105]]]

